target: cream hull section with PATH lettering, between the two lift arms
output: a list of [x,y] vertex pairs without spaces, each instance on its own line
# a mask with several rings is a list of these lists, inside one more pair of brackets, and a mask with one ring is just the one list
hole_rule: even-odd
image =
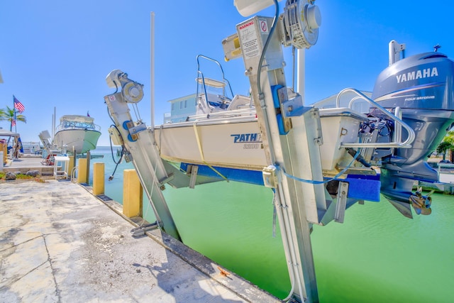
[[266,165],[256,119],[209,125],[166,124],[155,128],[155,139],[161,158],[170,162],[260,171]]

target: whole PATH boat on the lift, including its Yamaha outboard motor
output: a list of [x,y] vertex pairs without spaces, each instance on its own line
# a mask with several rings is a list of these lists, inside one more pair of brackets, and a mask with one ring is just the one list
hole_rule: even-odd
[[[348,166],[343,177],[367,178],[369,185],[364,188],[372,191],[369,194],[360,191],[358,197],[369,201],[380,199],[375,187],[378,183],[372,186],[370,181],[376,180],[384,197],[411,218],[411,205],[416,207],[416,214],[431,213],[430,199],[424,197],[421,211],[414,203],[412,188],[415,180],[438,182],[436,170],[426,160],[454,122],[450,83],[454,66],[452,60],[437,51],[400,60],[394,50],[403,50],[404,45],[393,40],[389,48],[390,65],[378,77],[372,99],[355,89],[345,89],[338,95],[336,108],[319,109],[323,135],[321,163],[326,180],[345,169],[351,155],[355,155],[352,148],[359,148],[360,161]],[[198,74],[203,75],[200,70]],[[216,82],[202,76],[196,81],[203,87],[197,89],[196,114],[184,122],[155,127],[162,159],[187,174],[197,166],[198,175],[214,180],[263,184],[266,159],[251,98],[235,95],[228,99],[206,93],[212,83],[217,87],[221,86],[219,83],[228,85],[225,80]],[[287,89],[286,93],[293,92]],[[347,107],[341,107],[339,100],[348,93],[355,97]],[[358,101],[370,104],[370,112],[353,110]],[[358,184],[361,187],[365,182]],[[336,194],[331,190],[336,186],[330,182],[326,188]]]

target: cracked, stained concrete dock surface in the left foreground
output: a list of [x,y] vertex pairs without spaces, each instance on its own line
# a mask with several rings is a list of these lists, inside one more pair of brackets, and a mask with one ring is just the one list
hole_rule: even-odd
[[89,187],[0,182],[0,212],[0,302],[281,302]]

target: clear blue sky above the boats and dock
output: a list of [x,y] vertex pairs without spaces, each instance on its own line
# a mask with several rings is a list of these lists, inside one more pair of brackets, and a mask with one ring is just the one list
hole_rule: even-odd
[[[279,2],[282,12],[284,2]],[[306,104],[345,87],[372,91],[388,64],[388,43],[406,43],[406,55],[433,50],[454,57],[451,1],[318,0],[319,40],[306,50]],[[221,40],[246,18],[233,0],[15,0],[0,2],[0,108],[13,94],[26,111],[18,123],[23,141],[51,131],[52,114],[87,114],[101,126],[99,145],[109,145],[111,125],[104,96],[111,70],[145,84],[139,104],[150,123],[150,13],[155,13],[155,123],[170,99],[196,90],[196,55],[223,62]],[[272,16],[274,9],[258,13]],[[290,48],[284,51],[291,53]],[[286,57],[287,58],[287,57]],[[289,58],[289,56],[288,56]],[[240,59],[223,62],[233,92],[248,94]],[[290,66],[292,62],[287,62]],[[287,79],[291,79],[287,69]],[[287,84],[291,84],[290,82]],[[9,128],[5,121],[3,128]]]

